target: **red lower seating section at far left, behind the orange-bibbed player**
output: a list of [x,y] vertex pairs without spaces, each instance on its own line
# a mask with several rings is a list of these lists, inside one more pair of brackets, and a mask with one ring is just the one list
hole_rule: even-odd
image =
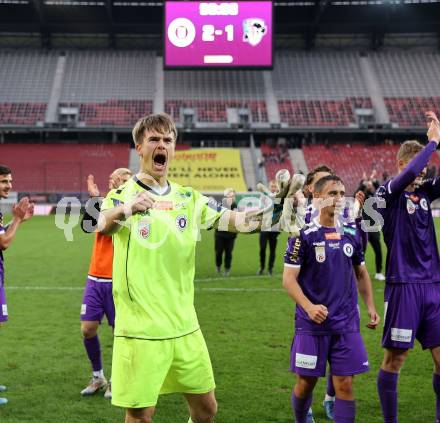
[[86,177],[95,176],[102,193],[118,167],[128,167],[130,147],[123,144],[3,144],[3,163],[13,171],[13,190],[86,192]]

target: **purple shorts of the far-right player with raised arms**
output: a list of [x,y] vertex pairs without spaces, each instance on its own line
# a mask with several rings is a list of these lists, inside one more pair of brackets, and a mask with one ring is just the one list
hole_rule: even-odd
[[440,283],[387,284],[382,346],[440,346]]

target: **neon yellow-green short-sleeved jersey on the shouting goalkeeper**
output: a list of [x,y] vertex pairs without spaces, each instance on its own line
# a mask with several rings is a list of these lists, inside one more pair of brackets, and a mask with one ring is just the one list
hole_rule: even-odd
[[115,336],[168,339],[199,328],[194,309],[195,247],[223,209],[189,187],[169,183],[157,195],[136,177],[104,199],[106,210],[147,190],[154,208],[122,223],[113,236]]

